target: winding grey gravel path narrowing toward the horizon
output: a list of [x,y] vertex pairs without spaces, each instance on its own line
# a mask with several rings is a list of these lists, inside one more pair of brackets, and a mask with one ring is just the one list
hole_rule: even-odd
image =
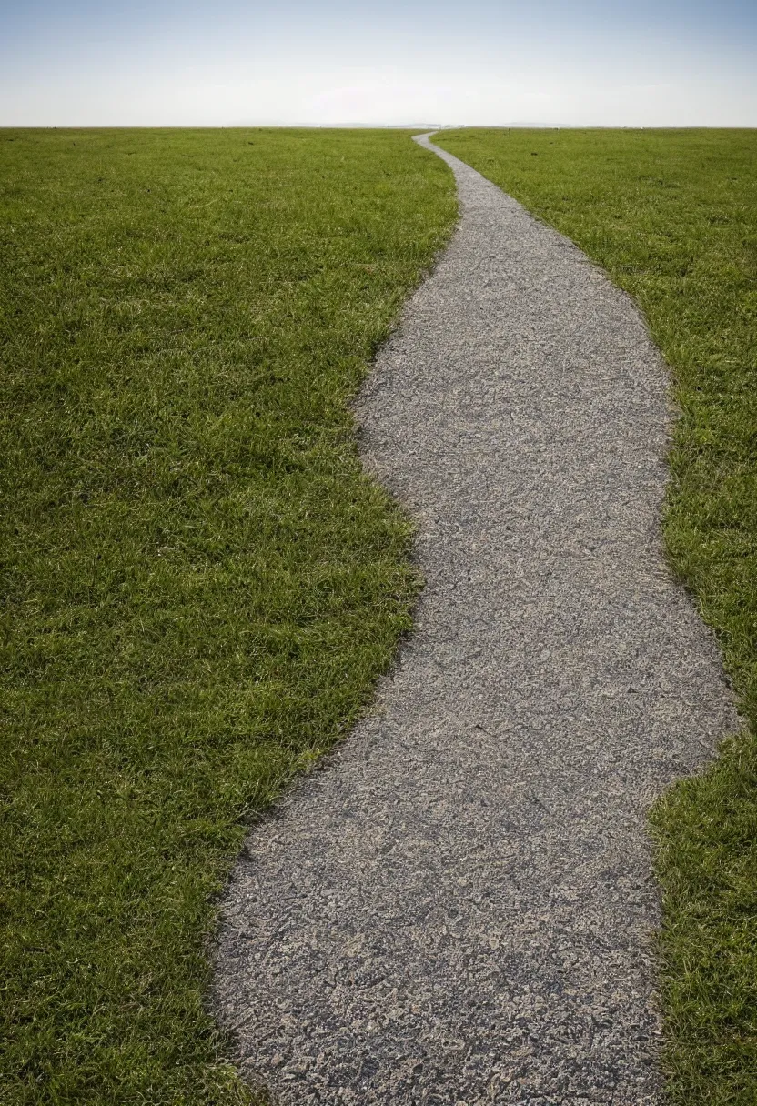
[[666,376],[631,302],[468,166],[365,463],[418,522],[375,710],[250,834],[217,1004],[281,1106],[657,1100],[644,815],[737,727],[665,567]]

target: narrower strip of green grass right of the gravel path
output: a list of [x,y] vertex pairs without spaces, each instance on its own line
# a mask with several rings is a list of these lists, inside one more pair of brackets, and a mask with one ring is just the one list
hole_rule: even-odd
[[653,812],[670,1098],[757,1103],[757,132],[464,131],[440,146],[631,293],[682,417],[665,534],[748,731]]

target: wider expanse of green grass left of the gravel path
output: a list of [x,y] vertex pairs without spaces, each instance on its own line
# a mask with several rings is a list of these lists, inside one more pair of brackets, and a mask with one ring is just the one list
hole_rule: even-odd
[[214,900],[408,626],[345,405],[455,215],[406,132],[0,133],[3,1104],[245,1100]]

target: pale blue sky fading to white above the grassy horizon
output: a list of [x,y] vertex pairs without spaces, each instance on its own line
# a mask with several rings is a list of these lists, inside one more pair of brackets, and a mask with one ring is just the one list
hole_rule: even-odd
[[757,0],[0,0],[0,126],[757,126]]

